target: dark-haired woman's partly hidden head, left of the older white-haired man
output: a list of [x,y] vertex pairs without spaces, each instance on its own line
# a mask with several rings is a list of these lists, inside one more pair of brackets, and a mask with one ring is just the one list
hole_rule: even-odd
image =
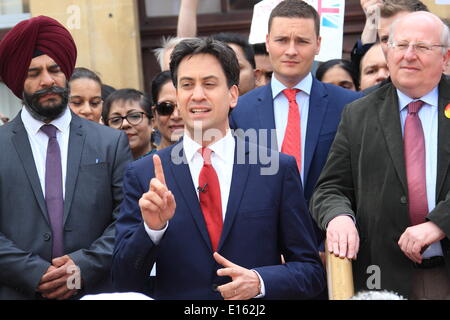
[[321,63],[317,68],[316,78],[325,83],[358,91],[359,82],[357,72],[348,60],[333,59]]

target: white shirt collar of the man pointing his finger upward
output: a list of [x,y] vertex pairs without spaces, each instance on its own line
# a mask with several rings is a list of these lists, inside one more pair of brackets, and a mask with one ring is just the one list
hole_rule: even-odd
[[[226,135],[209,145],[208,148],[211,149],[216,156],[218,156],[221,160],[225,162],[234,162],[234,147],[235,141],[231,134],[231,130],[228,130]],[[183,137],[183,149],[186,155],[186,159],[188,162],[192,162],[194,160],[194,156],[198,153],[198,150],[201,149],[202,146],[194,141],[189,134],[185,134]],[[233,152],[230,152],[233,150]]]

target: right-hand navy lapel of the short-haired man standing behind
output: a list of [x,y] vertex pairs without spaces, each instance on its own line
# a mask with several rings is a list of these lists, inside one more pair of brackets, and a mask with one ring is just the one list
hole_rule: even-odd
[[309,98],[308,124],[305,138],[305,156],[303,170],[303,185],[306,183],[311,161],[319,141],[320,131],[322,129],[323,119],[328,108],[328,94],[325,86],[317,79],[313,78],[311,95]]

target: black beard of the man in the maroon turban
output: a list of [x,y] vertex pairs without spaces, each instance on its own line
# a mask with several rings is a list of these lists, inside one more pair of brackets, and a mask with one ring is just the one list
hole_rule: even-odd
[[[39,103],[39,100],[42,96],[54,93],[61,97],[61,103],[55,104],[50,102],[50,106],[42,106]],[[69,89],[53,86],[47,89],[42,89],[36,91],[33,94],[27,94],[25,91],[23,92],[23,102],[27,110],[36,120],[42,122],[50,122],[56,118],[58,118],[63,111],[66,109],[67,104],[69,102]],[[48,102],[47,102],[48,103]]]

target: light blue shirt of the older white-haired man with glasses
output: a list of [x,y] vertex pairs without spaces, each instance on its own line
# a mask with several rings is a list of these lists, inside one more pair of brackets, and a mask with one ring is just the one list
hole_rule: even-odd
[[[402,134],[405,130],[406,116],[408,115],[408,104],[412,101],[422,100],[424,102],[419,110],[419,118],[422,122],[425,137],[425,167],[428,212],[436,206],[436,179],[437,179],[437,153],[438,153],[438,100],[439,91],[435,87],[429,93],[419,99],[412,99],[397,89],[398,105],[400,108],[400,120],[402,124]],[[423,258],[442,256],[442,247],[439,241],[431,244],[422,254]]]

